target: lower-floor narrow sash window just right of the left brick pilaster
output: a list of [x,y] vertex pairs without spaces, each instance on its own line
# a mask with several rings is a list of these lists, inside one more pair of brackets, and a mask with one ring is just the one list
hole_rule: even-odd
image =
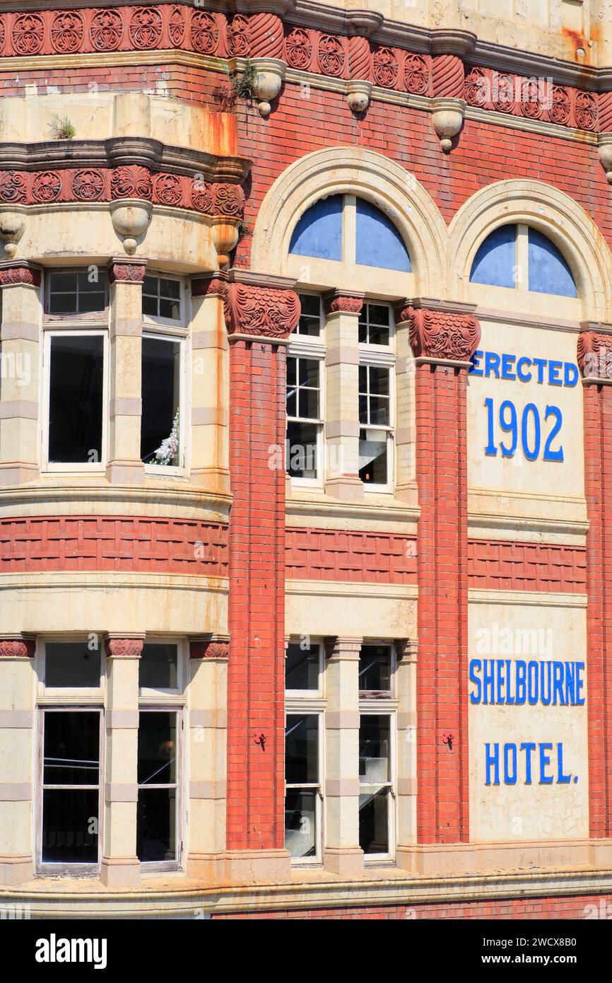
[[322,649],[292,643],[285,669],[285,846],[297,863],[321,858]]

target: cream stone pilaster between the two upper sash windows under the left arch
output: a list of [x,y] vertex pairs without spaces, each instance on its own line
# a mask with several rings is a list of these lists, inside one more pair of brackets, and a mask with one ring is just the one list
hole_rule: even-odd
[[359,501],[359,317],[363,294],[334,291],[325,298],[325,435],[327,467],[325,492],[335,498]]

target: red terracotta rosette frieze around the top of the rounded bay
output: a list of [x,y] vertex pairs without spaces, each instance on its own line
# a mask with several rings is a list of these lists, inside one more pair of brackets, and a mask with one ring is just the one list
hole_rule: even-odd
[[239,219],[245,193],[238,184],[153,173],[140,166],[79,167],[37,172],[0,170],[0,204],[111,202],[141,199]]

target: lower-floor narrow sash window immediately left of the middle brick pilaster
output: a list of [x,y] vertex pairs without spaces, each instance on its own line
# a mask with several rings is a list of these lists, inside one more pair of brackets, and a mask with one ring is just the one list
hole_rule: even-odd
[[362,646],[359,665],[360,846],[369,859],[388,859],[394,853],[394,670],[390,646]]

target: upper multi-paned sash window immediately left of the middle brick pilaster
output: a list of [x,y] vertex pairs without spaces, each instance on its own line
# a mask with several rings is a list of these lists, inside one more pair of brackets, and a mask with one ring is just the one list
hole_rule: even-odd
[[386,492],[393,477],[393,378],[391,309],[363,304],[360,340],[360,478],[364,488]]

